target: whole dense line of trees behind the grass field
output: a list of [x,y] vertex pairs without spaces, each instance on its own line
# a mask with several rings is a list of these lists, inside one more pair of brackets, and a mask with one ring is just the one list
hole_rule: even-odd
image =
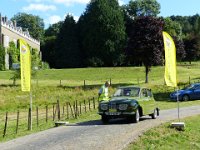
[[200,60],[200,16],[158,17],[160,7],[156,0],[123,6],[91,0],[78,22],[67,15],[46,30],[38,16],[21,13],[13,19],[42,41],[43,61],[52,68],[144,65],[148,75],[152,65],[164,62],[163,30],[175,41],[178,61]]

